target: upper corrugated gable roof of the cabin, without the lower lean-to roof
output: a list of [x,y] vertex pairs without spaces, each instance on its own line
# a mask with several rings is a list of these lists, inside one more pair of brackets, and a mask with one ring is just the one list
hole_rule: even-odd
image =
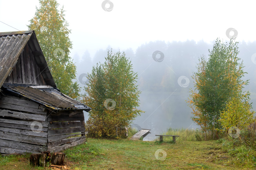
[[56,88],[46,59],[33,31],[0,32],[0,87],[11,73],[19,55],[28,43],[47,85]]

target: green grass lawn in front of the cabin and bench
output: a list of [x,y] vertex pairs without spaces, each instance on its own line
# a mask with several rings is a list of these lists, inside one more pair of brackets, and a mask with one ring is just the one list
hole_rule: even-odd
[[[250,161],[229,156],[218,141],[91,139],[64,150],[65,168],[34,168],[27,156],[0,157],[0,169],[253,169]],[[163,150],[156,159],[155,152]],[[166,156],[166,157],[165,157]]]

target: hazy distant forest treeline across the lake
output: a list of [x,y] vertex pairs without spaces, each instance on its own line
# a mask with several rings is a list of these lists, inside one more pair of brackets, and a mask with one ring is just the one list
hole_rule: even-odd
[[[201,55],[208,56],[208,49],[212,48],[213,43],[205,43],[199,41],[186,41],[186,42],[172,42],[165,43],[164,41],[149,42],[141,45],[134,52],[131,48],[126,49],[126,56],[130,57],[134,70],[138,72],[139,88],[142,91],[164,91],[171,92],[178,88],[180,91],[177,80],[180,76],[187,76],[190,80],[190,76],[196,69],[196,63]],[[87,73],[91,71],[92,65],[96,65],[98,62],[104,62],[104,57],[107,55],[107,50],[111,49],[109,46],[107,49],[100,49],[96,52],[91,60],[88,51],[84,53],[82,57],[77,54],[74,56],[74,62],[77,66],[77,75]],[[113,52],[119,49],[113,49]],[[156,62],[152,58],[154,51],[161,51],[164,54],[162,62]],[[248,72],[245,78],[250,79],[250,84],[246,87],[251,92],[256,92],[255,74],[256,64],[253,63],[251,57],[256,53],[256,42],[239,43],[239,55],[245,64],[245,70]],[[256,62],[255,62],[256,63]],[[77,78],[78,80],[78,78]],[[192,80],[188,88],[193,86]]]

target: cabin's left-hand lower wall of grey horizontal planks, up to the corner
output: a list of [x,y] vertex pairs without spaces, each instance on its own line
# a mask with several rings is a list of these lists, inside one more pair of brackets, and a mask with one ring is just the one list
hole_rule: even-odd
[[[24,154],[47,150],[47,112],[25,98],[5,96],[0,99],[0,153]],[[33,127],[33,123],[40,123]]]

